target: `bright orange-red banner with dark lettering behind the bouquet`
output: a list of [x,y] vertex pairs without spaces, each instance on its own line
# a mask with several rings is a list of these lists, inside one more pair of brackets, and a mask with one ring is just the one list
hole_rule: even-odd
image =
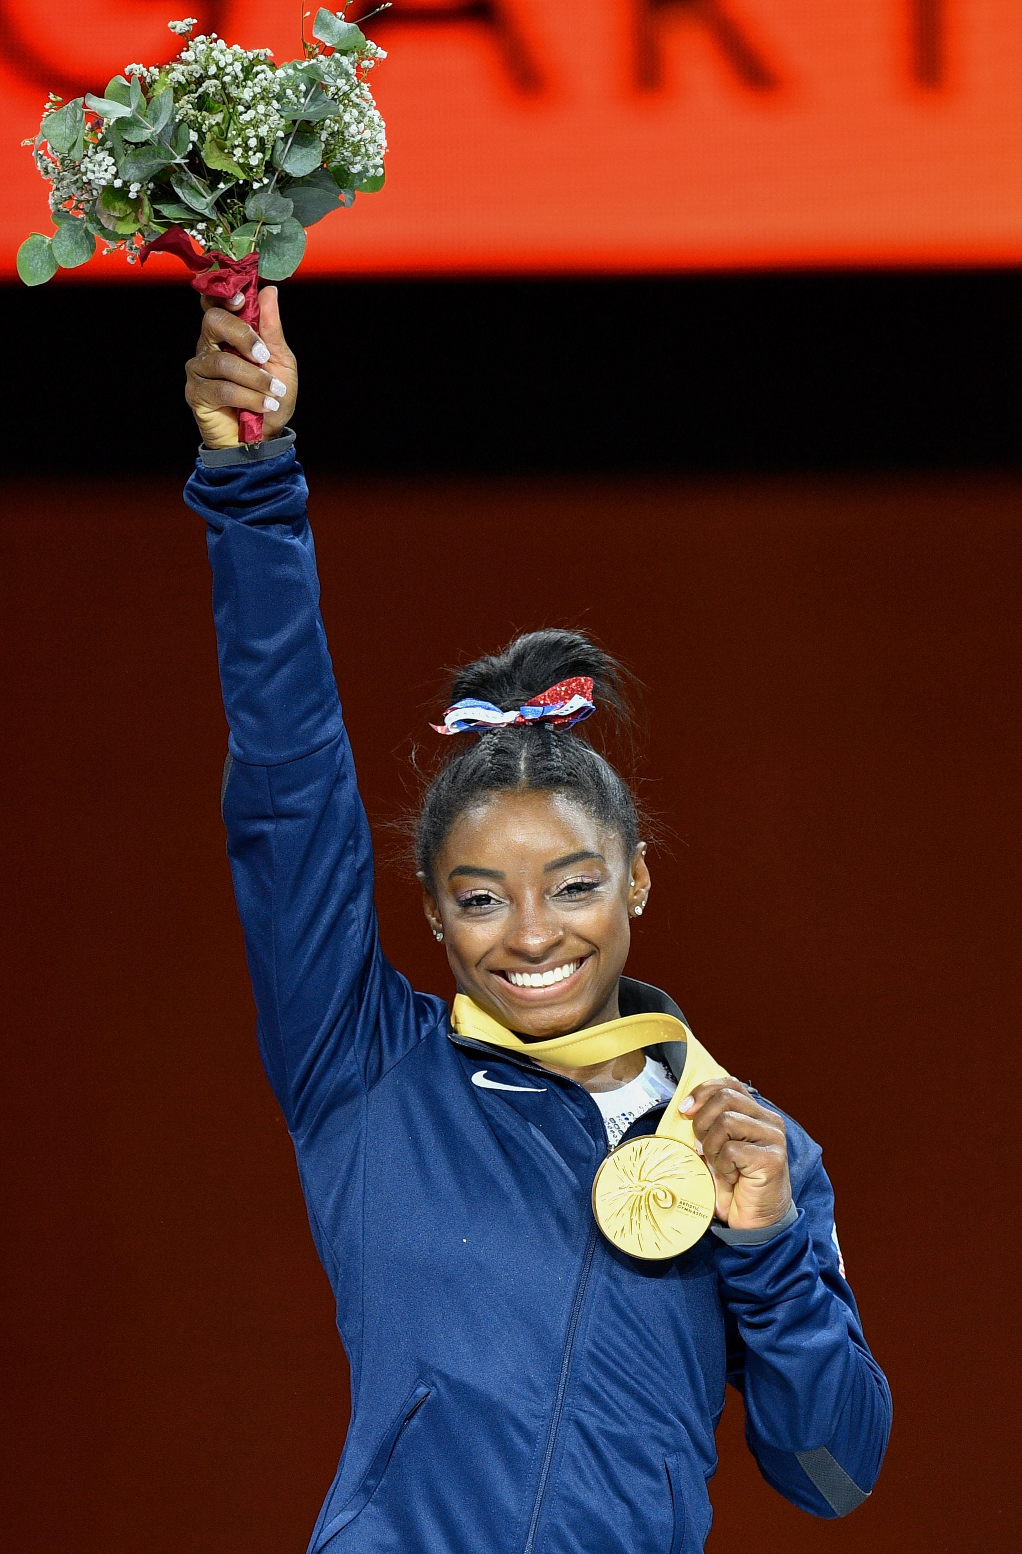
[[[2,274],[50,230],[19,146],[45,93],[169,57],[179,9],[3,0]],[[300,51],[294,0],[191,9]],[[1017,0],[396,0],[368,31],[387,190],[312,230],[303,275],[1022,260]]]

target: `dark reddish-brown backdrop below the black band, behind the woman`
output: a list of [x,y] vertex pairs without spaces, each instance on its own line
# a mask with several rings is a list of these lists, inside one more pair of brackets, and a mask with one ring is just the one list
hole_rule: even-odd
[[[646,682],[645,797],[674,831],[634,970],[825,1145],[888,1461],[814,1521],[758,1479],[733,1400],[721,1554],[1017,1548],[1020,496],[315,482],[374,824],[436,665],[589,625]],[[298,1554],[346,1375],[255,1051],[200,524],[177,482],[8,499],[5,1542]],[[447,991],[401,866],[379,901],[393,957]]]

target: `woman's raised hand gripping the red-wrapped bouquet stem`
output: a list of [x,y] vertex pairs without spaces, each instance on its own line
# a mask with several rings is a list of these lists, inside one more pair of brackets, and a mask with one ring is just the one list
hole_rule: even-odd
[[[238,412],[262,415],[262,441],[280,437],[295,413],[298,364],[287,350],[276,286],[259,292],[259,333],[230,308],[203,297],[202,334],[185,368],[185,399],[207,448],[238,446]],[[233,345],[241,356],[225,351]]]

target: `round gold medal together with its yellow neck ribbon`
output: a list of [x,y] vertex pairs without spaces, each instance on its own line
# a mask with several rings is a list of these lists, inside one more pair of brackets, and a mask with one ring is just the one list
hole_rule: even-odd
[[673,1015],[626,1015],[567,1037],[522,1041],[458,993],[452,1024],[460,1037],[564,1068],[607,1063],[640,1047],[683,1041],[685,1068],[657,1131],[610,1150],[596,1172],[592,1203],[603,1234],[632,1257],[677,1257],[696,1245],[713,1220],[716,1189],[713,1172],[696,1150],[693,1125],[677,1108],[697,1085],[728,1074],[683,1021]]

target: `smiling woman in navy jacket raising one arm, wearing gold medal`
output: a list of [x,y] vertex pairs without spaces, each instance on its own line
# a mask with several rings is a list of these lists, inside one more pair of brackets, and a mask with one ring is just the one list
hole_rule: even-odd
[[[231,345],[236,354],[221,350]],[[238,412],[269,409],[241,444]],[[384,957],[318,611],[273,287],[188,370],[230,723],[224,819],[259,1046],[337,1299],[353,1411],[311,1554],[697,1554],[725,1382],[787,1500],[868,1495],[887,1383],[808,1134],[624,976],[649,900],[621,712],[576,632],[466,668],[419,878],[458,993]],[[603,1231],[603,1235],[601,1235]]]

